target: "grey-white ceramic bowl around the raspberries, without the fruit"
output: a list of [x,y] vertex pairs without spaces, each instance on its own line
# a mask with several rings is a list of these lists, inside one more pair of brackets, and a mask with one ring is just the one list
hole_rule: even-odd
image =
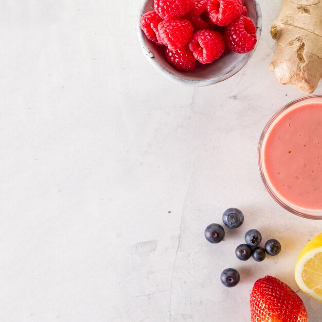
[[140,28],[142,14],[153,10],[153,0],[147,0],[138,12],[138,38],[146,58],[165,77],[178,83],[190,86],[207,86],[221,82],[241,70],[253,53],[260,41],[262,29],[262,14],[257,0],[245,0],[248,16],[252,18],[256,25],[257,43],[255,48],[247,53],[229,52],[224,57],[214,61],[212,64],[199,65],[192,71],[176,70],[164,57],[164,46],[159,47],[152,44],[145,37]]

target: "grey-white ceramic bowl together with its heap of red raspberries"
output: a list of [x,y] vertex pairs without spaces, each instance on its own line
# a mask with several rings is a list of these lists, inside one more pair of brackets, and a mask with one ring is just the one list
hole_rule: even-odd
[[257,0],[147,0],[138,35],[146,57],[164,76],[207,86],[245,66],[261,27]]

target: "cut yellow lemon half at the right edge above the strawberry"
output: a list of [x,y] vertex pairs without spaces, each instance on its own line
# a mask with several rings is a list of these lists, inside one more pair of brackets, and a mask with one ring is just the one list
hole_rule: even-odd
[[295,266],[295,280],[304,293],[322,302],[322,233],[302,249]]

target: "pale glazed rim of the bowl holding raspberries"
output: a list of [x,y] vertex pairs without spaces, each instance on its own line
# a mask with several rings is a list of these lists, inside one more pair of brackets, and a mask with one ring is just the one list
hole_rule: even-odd
[[146,4],[150,1],[151,0],[145,0],[142,7],[138,10],[137,34],[138,34],[140,47],[141,47],[141,50],[143,51],[144,55],[148,59],[148,61],[157,70],[159,70],[160,73],[163,74],[163,76],[165,76],[167,79],[170,79],[170,80],[175,81],[177,83],[181,83],[181,84],[185,84],[185,85],[189,85],[189,86],[208,86],[208,85],[222,82],[222,81],[230,78],[231,76],[234,76],[235,74],[237,74],[238,71],[240,71],[247,64],[247,62],[253,56],[253,54],[260,42],[261,30],[262,30],[262,12],[261,12],[261,8],[260,8],[258,0],[252,0],[254,3],[254,6],[255,6],[256,17],[257,17],[255,25],[256,25],[256,37],[257,37],[258,41],[256,42],[256,45],[252,51],[249,51],[244,54],[239,54],[239,55],[244,55],[246,57],[246,59],[236,62],[234,65],[232,65],[232,67],[225,74],[222,74],[222,75],[216,76],[216,77],[206,78],[206,79],[202,79],[202,80],[201,79],[194,80],[194,79],[186,79],[186,78],[174,75],[170,70],[164,68],[156,61],[154,54],[149,46],[149,42],[146,39],[145,34],[141,30],[141,27],[140,27],[141,16],[142,16],[142,14],[145,13],[144,8],[145,8]]

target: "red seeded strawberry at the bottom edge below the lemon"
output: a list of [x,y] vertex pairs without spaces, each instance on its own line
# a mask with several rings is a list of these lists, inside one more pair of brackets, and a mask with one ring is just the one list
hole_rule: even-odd
[[272,276],[257,280],[251,293],[251,322],[308,322],[300,297]]

